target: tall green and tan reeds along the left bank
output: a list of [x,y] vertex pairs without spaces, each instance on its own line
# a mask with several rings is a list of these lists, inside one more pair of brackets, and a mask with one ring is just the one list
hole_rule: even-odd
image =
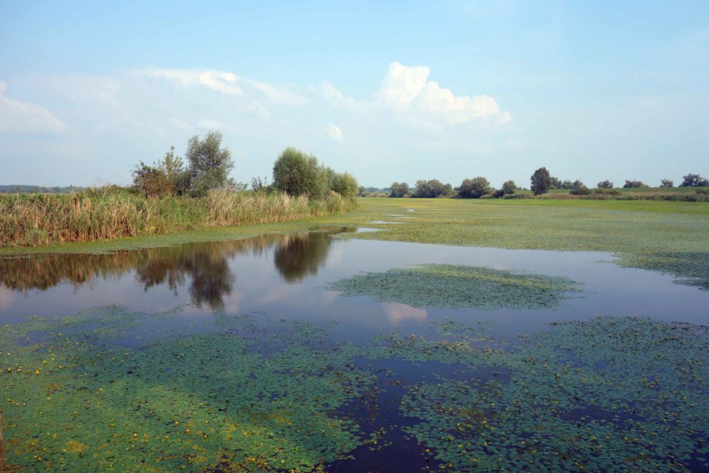
[[0,246],[49,245],[269,223],[323,216],[356,206],[355,201],[334,193],[323,201],[227,190],[210,191],[200,199],[144,199],[116,187],[76,194],[0,195]]

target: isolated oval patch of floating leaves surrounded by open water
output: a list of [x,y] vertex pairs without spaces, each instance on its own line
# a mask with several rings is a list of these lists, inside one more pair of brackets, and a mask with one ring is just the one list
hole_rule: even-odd
[[413,307],[541,309],[557,307],[568,292],[579,291],[564,277],[488,267],[417,265],[384,273],[355,274],[330,285],[345,296]]

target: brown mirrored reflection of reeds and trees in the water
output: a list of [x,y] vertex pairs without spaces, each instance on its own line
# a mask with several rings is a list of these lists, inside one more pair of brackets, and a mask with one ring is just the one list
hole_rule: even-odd
[[175,294],[188,286],[198,307],[223,308],[236,277],[229,260],[240,254],[263,255],[274,250],[274,263],[281,276],[296,282],[323,267],[330,248],[330,235],[354,228],[328,228],[309,233],[262,235],[247,240],[188,243],[174,247],[126,250],[105,255],[45,254],[0,258],[0,284],[12,291],[44,291],[57,284],[77,288],[96,279],[135,276],[145,291],[167,285]]

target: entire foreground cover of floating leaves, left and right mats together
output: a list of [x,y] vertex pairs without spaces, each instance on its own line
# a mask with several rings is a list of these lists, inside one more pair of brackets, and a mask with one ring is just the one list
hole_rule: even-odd
[[[708,461],[703,325],[593,318],[506,345],[486,324],[444,321],[433,338],[352,345],[332,324],[216,313],[208,333],[120,343],[176,314],[107,306],[4,326],[6,469],[330,471],[374,443],[386,455],[396,431],[440,471],[683,472]],[[362,357],[395,376],[403,361],[441,368],[397,379],[396,423],[364,428],[348,406],[389,388]]]

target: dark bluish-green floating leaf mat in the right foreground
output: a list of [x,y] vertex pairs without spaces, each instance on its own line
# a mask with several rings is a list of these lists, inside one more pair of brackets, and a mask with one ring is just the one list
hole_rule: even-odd
[[[404,428],[454,471],[707,468],[709,328],[647,318],[560,323],[518,351],[381,339],[379,356],[508,369],[409,386]],[[373,354],[374,355],[374,354]],[[474,467],[474,468],[473,468]]]

